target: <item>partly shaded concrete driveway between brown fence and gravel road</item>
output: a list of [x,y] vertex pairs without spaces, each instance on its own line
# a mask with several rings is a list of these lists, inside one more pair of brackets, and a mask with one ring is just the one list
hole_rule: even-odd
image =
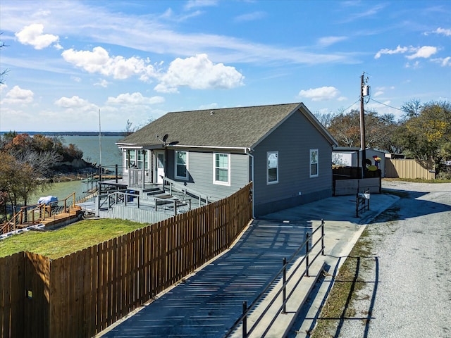
[[[283,258],[295,253],[321,219],[326,222],[326,256],[320,256],[318,266],[334,267],[337,257],[350,252],[362,225],[396,200],[372,195],[370,211],[361,218],[355,217],[354,196],[338,196],[254,220],[230,250],[99,337],[223,337],[240,318],[242,302],[256,299],[282,267]],[[292,318],[314,281],[297,290]],[[264,337],[282,337],[291,324],[292,320],[276,321]]]

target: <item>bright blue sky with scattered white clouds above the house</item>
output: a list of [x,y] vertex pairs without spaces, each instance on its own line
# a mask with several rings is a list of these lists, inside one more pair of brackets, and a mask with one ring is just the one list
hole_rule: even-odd
[[1,131],[123,131],[169,111],[451,100],[451,1],[0,2]]

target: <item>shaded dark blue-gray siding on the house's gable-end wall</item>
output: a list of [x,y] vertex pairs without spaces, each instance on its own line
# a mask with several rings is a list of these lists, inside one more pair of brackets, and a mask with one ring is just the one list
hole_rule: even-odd
[[[310,177],[310,149],[319,151],[318,177]],[[276,184],[266,184],[267,151],[278,151]],[[253,155],[255,215],[332,196],[332,146],[302,113],[290,116],[256,147]]]

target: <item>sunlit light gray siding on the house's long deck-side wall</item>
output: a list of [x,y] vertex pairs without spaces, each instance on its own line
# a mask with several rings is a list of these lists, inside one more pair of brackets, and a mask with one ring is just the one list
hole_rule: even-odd
[[[182,150],[182,149],[180,149]],[[213,200],[223,199],[249,183],[249,156],[245,154],[230,154],[230,186],[213,183],[213,152],[212,151],[187,151],[188,152],[188,172],[189,180],[183,181],[175,179],[175,153],[168,151],[167,177],[179,182],[186,182],[187,187],[191,187],[198,192],[202,192]],[[221,152],[221,151],[218,151]]]

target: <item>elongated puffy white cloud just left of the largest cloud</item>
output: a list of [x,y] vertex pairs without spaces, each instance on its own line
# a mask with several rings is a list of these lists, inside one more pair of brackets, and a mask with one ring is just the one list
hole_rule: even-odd
[[99,73],[112,76],[115,79],[127,79],[132,75],[142,75],[142,80],[147,80],[154,75],[154,67],[149,65],[149,60],[143,60],[132,56],[109,56],[108,51],[97,46],[92,51],[75,51],[67,49],[61,54],[65,61],[83,68],[88,73]]

